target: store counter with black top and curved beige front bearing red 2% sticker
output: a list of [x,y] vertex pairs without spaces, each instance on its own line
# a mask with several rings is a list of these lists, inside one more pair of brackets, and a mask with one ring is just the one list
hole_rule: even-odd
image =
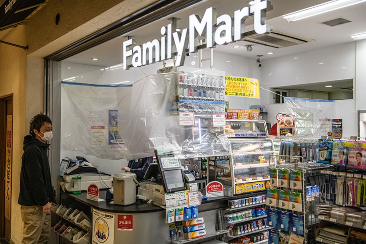
[[[100,198],[105,198],[106,192],[105,189],[100,190]],[[245,196],[257,195],[258,193],[245,194]],[[198,206],[199,217],[204,217],[208,234],[221,229],[218,221],[218,209],[227,209],[228,200],[241,197],[243,195],[221,196],[202,201],[202,204]],[[142,200],[137,200],[135,204],[127,206],[114,205],[110,202],[110,200],[101,202],[87,200],[86,192],[79,195],[61,192],[60,196],[60,203],[64,206],[79,209],[89,215],[93,229],[98,230],[100,227],[100,232],[98,230],[96,233],[91,233],[92,238],[94,235],[94,239],[98,238],[99,234],[101,237],[105,236],[106,239],[101,240],[105,241],[104,243],[169,243],[169,225],[165,223],[165,209]],[[102,218],[98,216],[102,216]],[[102,227],[104,224],[107,228]],[[208,240],[214,238],[214,236],[208,237]],[[98,242],[92,240],[91,243]]]

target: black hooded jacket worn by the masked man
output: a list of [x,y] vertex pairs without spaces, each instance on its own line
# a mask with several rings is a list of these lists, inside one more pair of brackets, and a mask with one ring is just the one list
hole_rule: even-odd
[[30,135],[24,137],[23,144],[18,203],[23,206],[44,206],[53,197],[47,157],[49,144]]

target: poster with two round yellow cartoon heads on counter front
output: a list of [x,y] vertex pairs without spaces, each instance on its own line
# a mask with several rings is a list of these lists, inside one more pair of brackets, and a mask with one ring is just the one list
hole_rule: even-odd
[[92,244],[114,243],[114,214],[104,213],[93,209]]

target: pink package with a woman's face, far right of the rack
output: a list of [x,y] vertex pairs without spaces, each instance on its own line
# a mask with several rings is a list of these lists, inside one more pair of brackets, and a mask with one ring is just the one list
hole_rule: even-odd
[[348,143],[349,168],[366,169],[366,142],[352,140]]

